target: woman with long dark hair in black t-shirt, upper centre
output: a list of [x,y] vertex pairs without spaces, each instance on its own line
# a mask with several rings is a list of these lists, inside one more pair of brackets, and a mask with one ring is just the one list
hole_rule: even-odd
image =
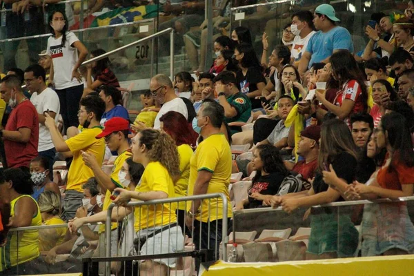
[[256,57],[253,46],[248,43],[237,45],[235,48],[235,62],[240,68],[236,75],[240,92],[250,98],[253,108],[261,108],[260,100],[255,99],[255,97],[262,95],[262,89],[266,86],[266,79],[262,75],[262,66]]

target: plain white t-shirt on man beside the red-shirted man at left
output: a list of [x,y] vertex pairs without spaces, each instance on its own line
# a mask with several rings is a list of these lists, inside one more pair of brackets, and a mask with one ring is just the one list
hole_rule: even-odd
[[[43,90],[40,95],[37,92],[32,94],[30,97],[30,101],[33,103],[33,106],[36,108],[37,113],[43,114],[45,111],[53,111],[56,112],[55,122],[57,123],[57,117],[59,117],[60,112],[60,103],[59,97],[54,90],[51,88],[46,88]],[[50,150],[50,148],[54,148],[52,142],[52,137],[50,137],[50,132],[46,126],[43,124],[39,124],[39,146],[37,150],[39,152]]]

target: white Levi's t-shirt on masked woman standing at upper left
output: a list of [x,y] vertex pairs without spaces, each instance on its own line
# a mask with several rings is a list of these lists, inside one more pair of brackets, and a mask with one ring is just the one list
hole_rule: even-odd
[[63,47],[62,37],[58,39],[49,37],[47,49],[48,55],[52,57],[55,88],[59,90],[81,84],[77,79],[72,80],[72,71],[79,59],[77,48],[72,44],[79,39],[73,32],[66,32],[66,42]]

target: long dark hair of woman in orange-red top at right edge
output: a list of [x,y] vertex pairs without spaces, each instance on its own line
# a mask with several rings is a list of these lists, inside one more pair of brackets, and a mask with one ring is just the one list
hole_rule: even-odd
[[414,166],[413,140],[411,140],[411,132],[408,129],[406,119],[397,112],[388,113],[381,118],[381,126],[385,132],[388,132],[388,141],[393,148],[393,156],[391,157],[391,165],[388,169],[393,169],[393,161],[401,162],[405,166]]

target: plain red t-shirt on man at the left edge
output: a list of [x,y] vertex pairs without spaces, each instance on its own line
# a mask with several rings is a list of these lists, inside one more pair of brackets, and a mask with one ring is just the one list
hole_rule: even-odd
[[12,110],[5,130],[18,131],[19,128],[30,128],[30,139],[21,143],[3,138],[8,168],[29,167],[30,161],[39,155],[39,117],[33,103],[27,99]]

